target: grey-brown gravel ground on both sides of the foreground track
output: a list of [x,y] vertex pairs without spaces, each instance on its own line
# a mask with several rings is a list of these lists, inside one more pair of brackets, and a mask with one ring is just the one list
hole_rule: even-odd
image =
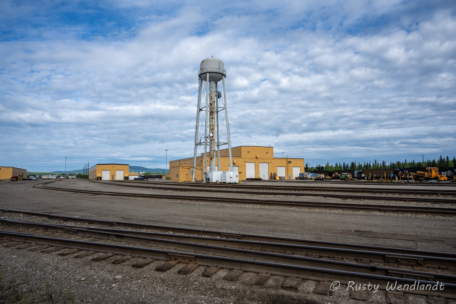
[[[33,184],[41,182],[1,181],[0,208],[456,252],[454,217],[100,196],[33,187]],[[77,189],[98,187],[102,190],[105,187],[85,180],[62,180],[57,183]],[[118,188],[120,192],[128,191],[126,187]],[[375,201],[372,203],[375,204]],[[331,295],[314,294],[312,290],[316,282],[311,280],[304,281],[298,290],[290,291],[280,289],[281,278],[271,279],[265,286],[256,286],[251,283],[250,273],[243,274],[233,283],[221,279],[223,271],[212,278],[202,278],[201,266],[190,275],[182,276],[177,274],[178,266],[166,273],[155,272],[154,263],[158,262],[150,267],[134,269],[127,264],[117,266],[89,259],[74,260],[52,253],[28,252],[0,245],[0,303],[47,303],[44,298],[41,298],[42,302],[31,300],[38,299],[40,292],[42,297],[54,295],[53,303],[366,303],[350,299],[348,291],[343,288]],[[5,289],[6,282],[11,281],[14,287]],[[26,296],[30,302],[25,301]],[[405,297],[407,303],[427,301],[422,296],[408,297]],[[369,298],[369,303],[385,301],[384,291],[380,290],[376,294],[371,293]]]

